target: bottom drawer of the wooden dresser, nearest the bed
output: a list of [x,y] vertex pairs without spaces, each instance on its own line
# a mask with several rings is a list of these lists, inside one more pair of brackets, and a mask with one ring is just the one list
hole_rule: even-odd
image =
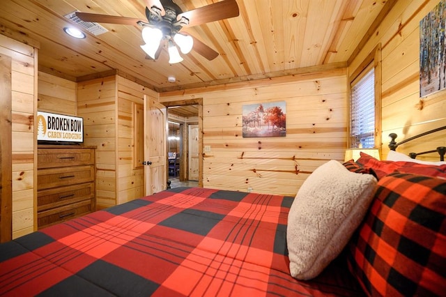
[[37,225],[39,228],[48,227],[49,225],[71,220],[91,212],[92,204],[91,199],[89,199],[67,206],[52,208],[48,211],[40,211],[37,214]]

